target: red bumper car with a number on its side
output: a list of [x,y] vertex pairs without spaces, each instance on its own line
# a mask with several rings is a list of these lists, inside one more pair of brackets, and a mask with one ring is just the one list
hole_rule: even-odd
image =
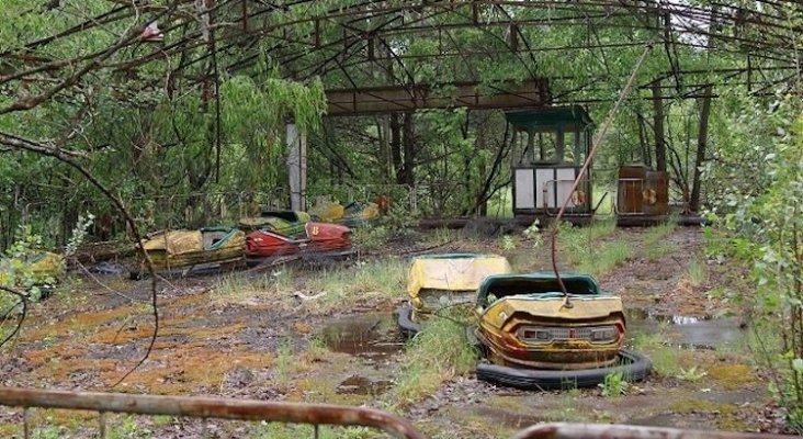
[[246,237],[246,261],[249,266],[286,256],[315,260],[348,258],[353,254],[351,229],[338,224],[308,222],[298,234],[263,229]]

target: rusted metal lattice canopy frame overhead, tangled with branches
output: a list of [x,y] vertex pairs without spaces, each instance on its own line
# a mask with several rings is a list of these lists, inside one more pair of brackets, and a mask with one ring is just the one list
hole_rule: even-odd
[[[462,66],[460,71],[450,72],[454,78],[448,82],[495,82],[499,92],[514,95],[516,83],[485,77],[475,66],[482,61],[513,63],[521,71],[517,81],[541,81],[545,75],[539,71],[548,70],[542,66],[547,54],[557,54],[567,64],[578,54],[591,54],[603,65],[604,75],[584,75],[577,68],[570,76],[548,80],[555,103],[599,102],[609,100],[607,88],[623,76],[611,71],[608,59],[624,50],[637,52],[651,42],[663,46],[665,69],[642,78],[640,87],[659,82],[661,98],[698,98],[708,86],[717,83],[744,85],[761,95],[787,87],[796,77],[793,36],[803,31],[792,20],[803,7],[791,0],[709,0],[695,4],[682,0],[108,3],[109,8],[95,16],[2,53],[0,87],[36,83],[43,91],[5,104],[0,114],[31,109],[68,91],[80,92],[83,79],[99,72],[116,74],[112,86],[121,89],[163,87],[172,93],[177,83],[189,83],[203,87],[208,95],[219,76],[258,75],[252,67],[260,59],[270,59],[285,78],[320,77],[327,87],[353,98],[375,88],[400,88],[415,97],[426,86],[416,66],[452,58]],[[142,36],[154,22],[163,35],[158,44]],[[546,45],[538,37],[542,31],[554,30],[579,37],[567,38],[570,43],[565,45]],[[612,30],[622,36],[606,35]],[[466,32],[476,41],[461,40]],[[113,43],[70,59],[53,55],[63,44],[88,35],[112,35]],[[411,50],[416,41],[426,44]],[[717,66],[685,66],[680,65],[679,50],[715,50],[726,57]],[[154,74],[150,66],[166,60],[166,70]],[[387,108],[382,111],[411,109],[382,93],[374,98],[385,101]],[[636,94],[632,99],[651,98]]]

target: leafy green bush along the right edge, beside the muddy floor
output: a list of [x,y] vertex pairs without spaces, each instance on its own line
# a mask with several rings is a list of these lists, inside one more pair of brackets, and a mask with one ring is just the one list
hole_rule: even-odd
[[[773,372],[772,389],[803,434],[803,106],[792,97],[761,104],[737,101],[727,147],[709,179],[721,196],[711,251],[745,260],[756,294],[746,301],[758,333],[757,358]],[[745,176],[754,178],[745,179]],[[767,339],[779,337],[779,339]]]

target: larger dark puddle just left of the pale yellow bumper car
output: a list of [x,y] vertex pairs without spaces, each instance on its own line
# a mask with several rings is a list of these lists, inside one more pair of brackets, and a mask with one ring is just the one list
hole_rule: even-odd
[[321,337],[335,352],[381,360],[402,351],[404,340],[393,314],[355,315],[327,325]]

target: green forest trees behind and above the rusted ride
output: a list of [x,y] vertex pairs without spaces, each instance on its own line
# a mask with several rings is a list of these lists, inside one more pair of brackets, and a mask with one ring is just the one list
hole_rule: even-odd
[[[310,203],[392,193],[410,215],[509,215],[521,136],[501,111],[455,102],[326,116],[326,90],[427,85],[449,95],[461,81],[498,90],[547,78],[553,104],[586,105],[600,124],[648,44],[595,162],[598,188],[612,189],[620,165],[645,162],[700,211],[733,184],[767,184],[743,169],[761,166],[778,131],[742,121],[794,104],[783,95],[796,80],[799,11],[742,3],[8,1],[0,246],[21,223],[64,245],[86,212],[103,217],[102,238],[124,233],[97,187],[37,151],[80,162],[146,229],[214,222],[222,205],[224,216],[286,207],[289,120],[308,135]],[[160,34],[145,37],[151,23]]]

